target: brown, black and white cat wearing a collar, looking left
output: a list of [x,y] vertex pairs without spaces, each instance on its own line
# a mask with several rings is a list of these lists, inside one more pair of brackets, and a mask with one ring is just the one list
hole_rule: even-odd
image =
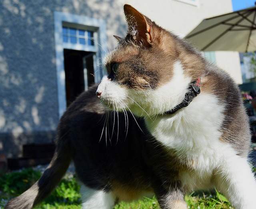
[[186,193],[213,187],[236,209],[256,208],[251,136],[237,85],[132,6],[125,4],[124,14],[128,32],[115,36],[107,75],[66,110],[50,165],[5,208],[42,201],[72,160],[83,209],[152,194],[161,208],[186,209]]

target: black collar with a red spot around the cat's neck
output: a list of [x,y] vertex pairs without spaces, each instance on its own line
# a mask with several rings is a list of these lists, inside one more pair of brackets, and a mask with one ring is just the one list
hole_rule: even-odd
[[190,102],[197,95],[200,94],[200,85],[201,85],[201,78],[198,77],[196,81],[193,81],[192,83],[190,83],[190,86],[188,87],[189,91],[185,94],[185,98],[183,99],[183,101],[180,104],[176,105],[171,110],[164,112],[164,114],[173,114],[174,112],[180,110],[181,108],[188,106],[188,104],[190,104]]

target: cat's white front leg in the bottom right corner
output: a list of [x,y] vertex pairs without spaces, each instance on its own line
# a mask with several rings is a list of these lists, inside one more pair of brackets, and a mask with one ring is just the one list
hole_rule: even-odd
[[214,175],[214,183],[235,209],[255,209],[256,182],[241,156],[225,156]]

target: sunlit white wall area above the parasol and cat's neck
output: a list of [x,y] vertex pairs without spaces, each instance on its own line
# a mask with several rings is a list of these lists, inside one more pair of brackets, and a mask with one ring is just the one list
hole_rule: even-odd
[[188,34],[203,19],[232,12],[231,0],[198,0],[199,6],[182,0],[122,0],[154,20],[157,24],[177,34]]

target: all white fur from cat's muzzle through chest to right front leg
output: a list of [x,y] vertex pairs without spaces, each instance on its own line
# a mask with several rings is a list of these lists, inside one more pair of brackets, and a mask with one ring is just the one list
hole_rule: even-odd
[[132,113],[144,116],[156,140],[175,150],[179,160],[189,166],[180,174],[186,191],[216,186],[236,209],[256,208],[256,183],[250,166],[220,140],[225,107],[218,98],[202,92],[186,108],[163,115],[184,99],[191,81],[176,62],[170,81],[156,90],[125,89],[106,79],[99,89],[102,94],[105,91],[108,102],[125,102]]

